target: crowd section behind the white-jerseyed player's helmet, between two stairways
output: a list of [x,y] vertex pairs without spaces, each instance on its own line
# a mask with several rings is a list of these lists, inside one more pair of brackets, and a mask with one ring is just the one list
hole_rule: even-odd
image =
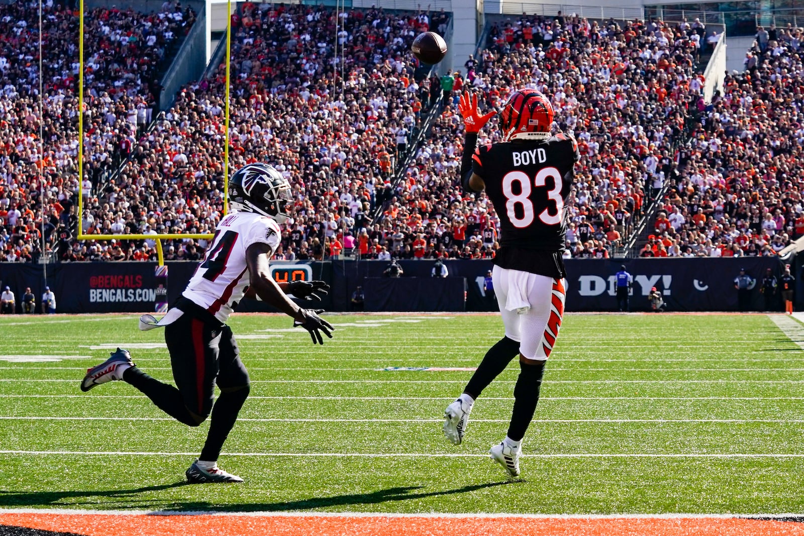
[[[431,100],[410,44],[443,17],[248,4],[233,18],[229,166],[273,162],[293,178],[297,207],[277,256],[322,258],[362,240],[375,190]],[[224,208],[224,95],[224,66],[184,88],[92,201],[85,228],[211,232]],[[189,243],[170,243],[167,257],[189,258]],[[153,255],[148,243],[141,254]]]

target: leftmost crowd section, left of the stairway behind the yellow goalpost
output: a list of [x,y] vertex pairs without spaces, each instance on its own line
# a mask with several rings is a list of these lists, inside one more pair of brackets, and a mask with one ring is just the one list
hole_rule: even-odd
[[[0,4],[0,261],[35,260],[43,233],[47,250],[59,242],[66,250],[76,218],[79,17],[46,2],[42,22],[40,77],[39,2]],[[194,22],[179,2],[165,2],[158,13],[113,7],[85,14],[92,39],[84,51],[84,194],[125,158],[149,121],[161,74]]]

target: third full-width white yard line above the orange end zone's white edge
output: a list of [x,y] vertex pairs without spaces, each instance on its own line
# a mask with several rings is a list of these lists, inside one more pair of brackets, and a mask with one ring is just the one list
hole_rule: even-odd
[[[0,395],[0,399],[142,399],[146,395]],[[450,400],[454,396],[260,396],[256,400]],[[513,400],[514,397],[484,396],[483,400]],[[804,400],[804,396],[540,396],[539,400]]]

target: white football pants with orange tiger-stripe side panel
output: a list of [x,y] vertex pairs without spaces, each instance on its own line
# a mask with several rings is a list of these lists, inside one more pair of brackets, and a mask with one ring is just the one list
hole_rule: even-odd
[[497,265],[491,277],[506,337],[524,358],[547,359],[564,318],[565,280]]

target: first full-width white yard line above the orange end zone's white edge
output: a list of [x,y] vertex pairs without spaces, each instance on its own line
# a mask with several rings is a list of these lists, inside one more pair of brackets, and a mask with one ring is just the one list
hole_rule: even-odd
[[[74,450],[0,450],[0,454],[31,456],[198,456],[197,452],[131,452],[131,451],[74,451]],[[487,458],[482,454],[454,452],[223,452],[221,456],[243,457],[302,457],[302,458]],[[597,454],[523,454],[524,458],[804,458],[804,454],[781,453],[710,453],[710,452],[601,452]]]

